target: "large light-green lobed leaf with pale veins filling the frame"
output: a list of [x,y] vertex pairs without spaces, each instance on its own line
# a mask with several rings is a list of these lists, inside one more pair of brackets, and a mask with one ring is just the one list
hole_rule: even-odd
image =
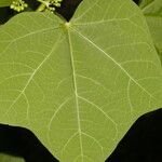
[[62,162],[103,162],[161,98],[161,64],[130,0],[84,0],[69,23],[23,13],[0,29],[0,122],[30,129]]

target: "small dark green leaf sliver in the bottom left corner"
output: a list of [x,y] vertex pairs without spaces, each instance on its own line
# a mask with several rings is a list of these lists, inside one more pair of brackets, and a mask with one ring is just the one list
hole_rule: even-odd
[[0,153],[0,162],[25,162],[25,161],[21,158]]

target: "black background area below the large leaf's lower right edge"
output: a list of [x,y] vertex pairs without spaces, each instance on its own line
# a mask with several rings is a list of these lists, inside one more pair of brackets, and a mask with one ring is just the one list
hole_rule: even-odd
[[139,117],[106,162],[162,162],[162,108]]

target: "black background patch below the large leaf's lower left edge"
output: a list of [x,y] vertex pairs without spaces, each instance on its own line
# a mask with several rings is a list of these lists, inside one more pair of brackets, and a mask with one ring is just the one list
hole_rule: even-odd
[[26,162],[58,162],[25,127],[0,124],[0,152],[24,158]]

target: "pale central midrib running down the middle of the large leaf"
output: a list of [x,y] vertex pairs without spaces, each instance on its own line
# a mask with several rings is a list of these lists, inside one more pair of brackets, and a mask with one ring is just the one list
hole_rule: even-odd
[[76,69],[75,69],[75,63],[73,63],[72,44],[71,44],[71,37],[70,37],[70,33],[69,33],[69,29],[67,29],[67,32],[68,32],[69,51],[70,51],[70,58],[71,58],[72,80],[73,80],[75,100],[76,100],[76,108],[77,108],[77,119],[78,119],[78,132],[79,132],[80,149],[81,149],[81,157],[82,157],[82,161],[83,161],[83,147],[82,147],[81,124],[80,124],[80,113],[79,113],[79,102],[78,102],[78,91],[77,91],[77,80],[76,80],[77,76],[76,76]]

